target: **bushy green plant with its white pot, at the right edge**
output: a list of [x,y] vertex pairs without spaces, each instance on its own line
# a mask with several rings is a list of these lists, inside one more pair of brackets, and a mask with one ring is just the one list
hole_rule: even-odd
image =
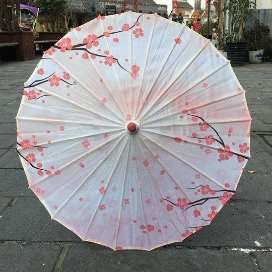
[[269,26],[254,19],[253,25],[249,30],[244,31],[247,40],[249,63],[259,64],[262,62],[263,51],[268,48],[272,40],[270,37]]

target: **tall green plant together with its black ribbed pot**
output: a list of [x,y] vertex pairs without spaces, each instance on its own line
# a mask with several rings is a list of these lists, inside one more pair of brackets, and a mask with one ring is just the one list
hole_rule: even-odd
[[232,66],[244,65],[246,42],[242,40],[244,22],[250,9],[255,8],[255,2],[250,0],[231,0],[223,11],[230,16],[229,36],[226,42],[228,59]]

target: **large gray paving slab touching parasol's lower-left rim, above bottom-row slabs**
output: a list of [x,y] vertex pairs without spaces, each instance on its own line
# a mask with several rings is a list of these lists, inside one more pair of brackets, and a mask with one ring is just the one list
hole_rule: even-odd
[[51,220],[37,198],[17,198],[0,222],[0,240],[82,241],[72,231]]

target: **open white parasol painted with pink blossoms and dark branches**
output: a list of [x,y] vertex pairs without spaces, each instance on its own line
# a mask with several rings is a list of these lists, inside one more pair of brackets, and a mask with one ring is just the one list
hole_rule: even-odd
[[230,62],[156,14],[98,17],[44,52],[17,119],[29,187],[84,241],[152,250],[211,223],[249,158]]

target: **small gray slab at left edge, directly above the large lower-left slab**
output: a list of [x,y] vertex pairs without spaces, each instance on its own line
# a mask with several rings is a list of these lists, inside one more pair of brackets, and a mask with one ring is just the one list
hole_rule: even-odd
[[32,196],[35,194],[28,188],[23,169],[0,169],[0,197]]

